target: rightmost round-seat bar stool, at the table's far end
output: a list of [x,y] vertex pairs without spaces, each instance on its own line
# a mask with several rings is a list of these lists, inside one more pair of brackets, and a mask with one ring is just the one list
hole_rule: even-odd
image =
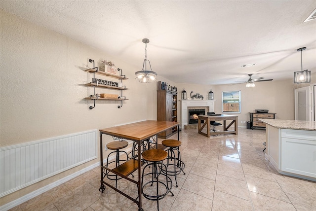
[[[176,180],[176,187],[178,187],[178,182],[177,182],[177,175],[180,174],[180,172],[184,173],[184,162],[181,161],[181,153],[179,150],[179,147],[181,146],[182,142],[178,140],[172,140],[172,139],[167,139],[163,140],[162,145],[169,147],[166,151],[168,152],[168,159],[167,159],[167,175],[169,176],[174,176]],[[177,153],[177,157],[176,154]],[[173,163],[172,163],[173,160]]]

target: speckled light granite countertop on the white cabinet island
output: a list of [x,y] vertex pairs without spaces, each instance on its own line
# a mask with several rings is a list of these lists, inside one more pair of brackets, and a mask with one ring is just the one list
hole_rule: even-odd
[[315,121],[284,120],[284,119],[259,119],[259,120],[275,128],[316,131]]

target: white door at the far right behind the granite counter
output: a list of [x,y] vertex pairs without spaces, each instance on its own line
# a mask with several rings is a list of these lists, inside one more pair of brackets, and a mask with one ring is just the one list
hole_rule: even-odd
[[311,87],[302,87],[294,90],[295,120],[312,120]]

